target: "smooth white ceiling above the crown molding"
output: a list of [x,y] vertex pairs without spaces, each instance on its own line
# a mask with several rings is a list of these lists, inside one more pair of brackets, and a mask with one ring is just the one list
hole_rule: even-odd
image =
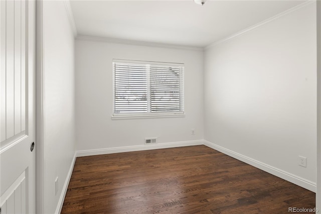
[[205,47],[305,1],[71,1],[78,35]]

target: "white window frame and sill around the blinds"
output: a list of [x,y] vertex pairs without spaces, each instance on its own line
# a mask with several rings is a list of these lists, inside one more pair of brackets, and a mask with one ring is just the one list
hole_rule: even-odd
[[[150,65],[160,65],[160,66],[179,66],[180,69],[180,110],[178,112],[143,112],[143,113],[115,113],[115,64],[116,63],[124,63],[124,64],[145,64],[149,67],[147,69],[147,76],[150,79]],[[112,120],[118,119],[143,119],[143,118],[176,118],[176,117],[185,117],[184,112],[184,63],[172,63],[172,62],[156,62],[156,61],[140,61],[140,60],[124,60],[124,59],[113,59],[112,60],[112,70],[113,70],[113,113],[112,113]],[[150,97],[150,81],[147,79],[147,111],[148,109],[151,110],[151,97]],[[148,85],[149,83],[149,85]],[[148,97],[149,96],[149,97]]]

